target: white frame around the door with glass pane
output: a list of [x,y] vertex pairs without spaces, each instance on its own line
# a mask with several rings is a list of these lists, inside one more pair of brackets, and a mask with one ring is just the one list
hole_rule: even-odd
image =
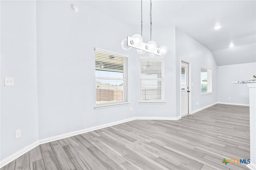
[[[192,90],[191,90],[191,61],[180,59],[180,73],[181,73],[181,62],[188,63],[188,90],[190,91],[188,94],[188,115],[192,114],[192,107],[191,107],[191,99],[192,99]],[[179,76],[180,76],[179,73]],[[179,83],[181,86],[181,83]],[[180,87],[179,87],[180,90]],[[187,116],[187,115],[184,115]],[[180,93],[180,117],[181,117],[181,93]]]

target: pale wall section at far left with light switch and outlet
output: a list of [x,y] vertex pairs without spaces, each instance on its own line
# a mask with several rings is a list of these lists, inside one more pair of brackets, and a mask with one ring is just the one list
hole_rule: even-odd
[[[36,2],[1,1],[1,160],[38,140]],[[14,86],[3,86],[14,77]],[[15,130],[21,137],[15,140]]]

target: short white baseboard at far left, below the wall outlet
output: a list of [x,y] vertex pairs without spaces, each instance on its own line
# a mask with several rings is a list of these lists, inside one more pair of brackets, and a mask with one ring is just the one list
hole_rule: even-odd
[[38,146],[39,143],[38,141],[26,146],[25,148],[22,148],[21,150],[19,150],[18,152],[8,156],[7,158],[1,160],[0,162],[0,168],[6,166],[7,164],[9,164],[10,162],[14,161],[15,159],[17,159],[18,157],[24,155],[25,153],[27,153],[28,151],[34,149],[36,146]]

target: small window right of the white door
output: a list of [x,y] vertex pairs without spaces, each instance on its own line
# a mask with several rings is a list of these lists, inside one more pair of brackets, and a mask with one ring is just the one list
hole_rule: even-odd
[[212,70],[201,67],[201,94],[212,93]]

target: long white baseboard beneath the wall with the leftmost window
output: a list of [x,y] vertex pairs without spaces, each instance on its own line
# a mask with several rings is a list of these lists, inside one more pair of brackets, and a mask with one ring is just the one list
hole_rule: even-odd
[[85,128],[85,129],[82,129],[82,130],[77,130],[77,131],[74,131],[74,132],[65,133],[65,134],[61,134],[61,135],[57,135],[57,136],[52,136],[50,138],[40,139],[39,144],[44,144],[44,143],[52,142],[52,141],[55,141],[55,140],[68,138],[70,136],[75,136],[75,135],[78,135],[78,134],[82,134],[82,133],[90,132],[90,131],[93,131],[93,130],[98,130],[98,129],[101,129],[101,128],[106,128],[106,127],[118,125],[120,123],[125,123],[125,122],[129,122],[129,121],[133,121],[133,120],[135,120],[135,117],[132,117],[132,118],[129,118],[129,119],[123,119],[121,121],[116,121],[116,122],[112,122],[112,123],[106,123],[104,125],[99,125],[99,126],[96,126],[96,127]]

